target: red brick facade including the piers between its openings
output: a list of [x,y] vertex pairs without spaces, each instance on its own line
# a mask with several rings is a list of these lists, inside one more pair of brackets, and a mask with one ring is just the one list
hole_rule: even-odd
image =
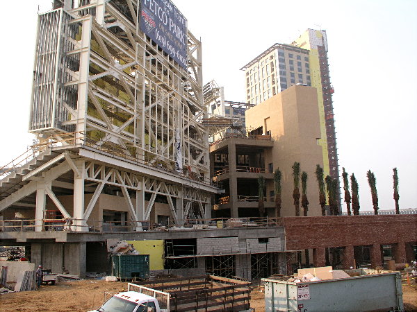
[[373,267],[382,265],[382,245],[393,246],[395,262],[414,260],[417,215],[319,216],[284,218],[286,250],[313,249],[316,266],[325,248],[344,248],[343,266],[354,266],[354,246],[370,246]]

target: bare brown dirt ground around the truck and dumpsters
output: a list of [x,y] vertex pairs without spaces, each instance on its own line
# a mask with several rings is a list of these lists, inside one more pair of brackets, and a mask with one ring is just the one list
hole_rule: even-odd
[[[0,311],[89,311],[104,302],[104,292],[126,291],[125,282],[106,282],[95,279],[60,282],[41,286],[38,291],[0,295]],[[405,311],[417,311],[417,286],[403,285]],[[265,311],[263,288],[251,293],[251,307]]]

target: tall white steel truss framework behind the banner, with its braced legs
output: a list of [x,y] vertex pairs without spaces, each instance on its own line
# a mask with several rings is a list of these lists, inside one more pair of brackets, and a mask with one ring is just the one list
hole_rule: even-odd
[[[19,196],[3,199],[0,211],[36,191],[37,222],[44,210],[38,196],[47,194],[63,216],[76,220],[77,230],[85,230],[99,194],[111,185],[120,187],[134,221],[149,220],[158,195],[167,197],[175,222],[188,218],[195,205],[197,215],[208,218],[210,193],[216,190],[207,185],[199,40],[188,32],[184,69],[140,31],[140,1],[64,0],[55,5],[59,8],[39,17],[29,130],[40,142],[58,142],[62,154],[26,175],[43,179],[45,186],[29,182]],[[65,139],[70,133],[76,135]],[[72,156],[64,152],[69,149]],[[85,150],[92,150],[92,157]],[[54,170],[58,173],[48,175]],[[48,187],[59,173],[71,170],[73,216]],[[87,205],[85,182],[97,184]],[[147,207],[145,192],[151,193]]]

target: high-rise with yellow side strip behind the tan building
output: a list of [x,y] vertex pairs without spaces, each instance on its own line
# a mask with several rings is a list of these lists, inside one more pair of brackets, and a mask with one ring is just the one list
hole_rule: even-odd
[[340,185],[326,31],[307,29],[291,44],[274,44],[242,70],[248,103],[259,104],[296,84],[316,88],[320,114],[318,144],[322,147],[325,175],[337,179]]

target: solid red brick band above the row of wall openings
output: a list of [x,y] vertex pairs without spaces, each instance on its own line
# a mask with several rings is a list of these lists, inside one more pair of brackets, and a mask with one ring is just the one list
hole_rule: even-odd
[[284,218],[286,250],[417,241],[417,215]]

